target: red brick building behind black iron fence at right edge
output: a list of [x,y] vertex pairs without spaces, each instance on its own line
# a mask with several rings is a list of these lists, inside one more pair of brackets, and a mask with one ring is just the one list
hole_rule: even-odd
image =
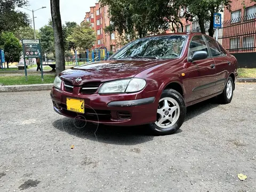
[[233,1],[224,11],[223,46],[231,53],[255,52],[256,6],[251,0]]

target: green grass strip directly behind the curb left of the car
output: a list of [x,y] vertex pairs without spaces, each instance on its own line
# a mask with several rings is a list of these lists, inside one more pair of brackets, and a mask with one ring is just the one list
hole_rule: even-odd
[[26,82],[25,76],[2,76],[0,83],[4,85],[28,85],[28,84],[44,84],[53,83],[54,75],[44,75],[44,81],[41,80],[41,75],[28,75]]

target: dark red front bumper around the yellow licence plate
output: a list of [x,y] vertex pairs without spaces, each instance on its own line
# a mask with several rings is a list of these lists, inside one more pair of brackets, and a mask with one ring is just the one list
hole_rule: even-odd
[[[50,95],[53,108],[60,115],[96,124],[134,126],[156,121],[157,92],[158,90],[133,94],[82,95],[53,87]],[[85,113],[67,110],[66,98],[84,99]]]

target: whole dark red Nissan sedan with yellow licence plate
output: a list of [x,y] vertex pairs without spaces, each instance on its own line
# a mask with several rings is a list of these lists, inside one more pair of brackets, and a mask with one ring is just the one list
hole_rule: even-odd
[[[106,125],[148,124],[156,135],[182,125],[186,107],[218,95],[233,97],[237,60],[199,33],[149,36],[106,61],[60,73],[51,91],[61,115]],[[122,129],[122,128],[120,128]]]

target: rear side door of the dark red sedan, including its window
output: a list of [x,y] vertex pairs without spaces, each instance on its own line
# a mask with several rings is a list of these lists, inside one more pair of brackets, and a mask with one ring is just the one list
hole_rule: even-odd
[[228,57],[227,52],[215,39],[206,35],[204,37],[210,47],[210,52],[216,66],[216,84],[214,92],[222,92],[229,74],[231,58]]

